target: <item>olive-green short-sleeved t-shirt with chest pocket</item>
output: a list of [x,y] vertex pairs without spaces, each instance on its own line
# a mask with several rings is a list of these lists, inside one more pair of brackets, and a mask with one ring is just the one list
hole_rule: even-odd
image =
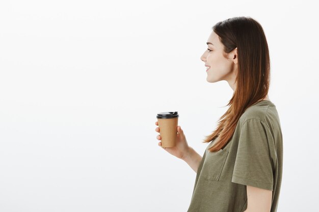
[[283,146],[276,106],[263,100],[247,108],[226,146],[210,153],[215,140],[199,164],[188,212],[245,211],[247,186],[273,191],[271,212],[277,211]]

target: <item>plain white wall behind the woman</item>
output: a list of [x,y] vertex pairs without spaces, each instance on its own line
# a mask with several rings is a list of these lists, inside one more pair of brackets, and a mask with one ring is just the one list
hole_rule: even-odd
[[232,95],[200,56],[218,21],[268,39],[284,138],[278,211],[315,211],[318,13],[314,1],[2,1],[0,211],[187,211],[196,173],[157,145],[178,111],[201,155]]

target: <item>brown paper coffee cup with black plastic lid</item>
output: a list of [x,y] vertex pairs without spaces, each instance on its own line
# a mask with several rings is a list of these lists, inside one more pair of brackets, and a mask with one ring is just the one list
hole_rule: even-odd
[[161,135],[162,147],[176,146],[178,112],[157,113],[159,135]]

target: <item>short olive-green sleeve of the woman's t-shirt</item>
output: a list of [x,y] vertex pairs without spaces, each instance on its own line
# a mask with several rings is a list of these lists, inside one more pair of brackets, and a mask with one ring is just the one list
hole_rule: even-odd
[[269,153],[268,125],[259,119],[243,124],[231,181],[273,191],[273,166]]

